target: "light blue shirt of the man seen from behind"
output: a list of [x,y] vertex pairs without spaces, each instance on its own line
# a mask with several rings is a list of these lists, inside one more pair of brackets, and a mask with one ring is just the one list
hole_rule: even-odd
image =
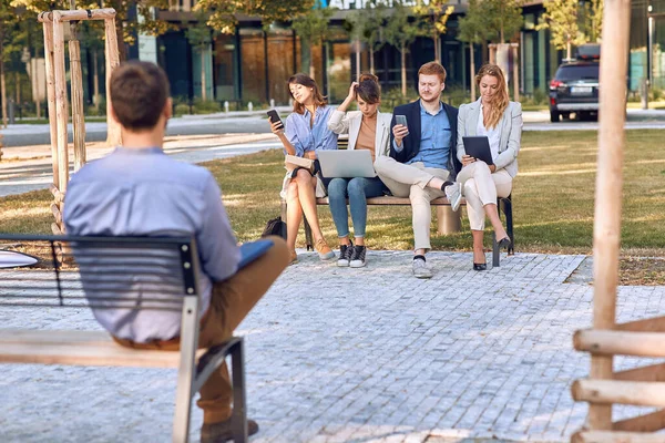
[[[160,147],[119,147],[85,165],[69,184],[63,219],[72,235],[195,237],[200,315],[209,306],[213,282],[238,268],[239,248],[215,178],[203,167],[170,158]],[[117,297],[123,298],[122,290]],[[93,309],[93,315],[121,339],[147,342],[180,334],[181,312]]]

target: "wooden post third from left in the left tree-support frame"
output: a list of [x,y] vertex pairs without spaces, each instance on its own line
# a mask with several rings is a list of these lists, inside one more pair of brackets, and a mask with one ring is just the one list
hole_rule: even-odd
[[[75,1],[70,0],[70,9],[75,10]],[[70,21],[69,41],[70,75],[72,89],[72,126],[74,133],[74,172],[85,164],[85,111],[83,110],[83,74],[81,72],[81,42],[78,37],[78,22]]]

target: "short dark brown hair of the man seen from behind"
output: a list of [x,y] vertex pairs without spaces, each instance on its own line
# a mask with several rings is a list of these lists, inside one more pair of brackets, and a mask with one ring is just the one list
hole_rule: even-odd
[[155,127],[168,100],[168,78],[154,63],[132,60],[111,74],[111,105],[120,124],[131,131]]

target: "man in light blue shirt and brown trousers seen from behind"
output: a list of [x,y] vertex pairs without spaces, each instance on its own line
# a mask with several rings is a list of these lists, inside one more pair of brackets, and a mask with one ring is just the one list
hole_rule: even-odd
[[[121,125],[123,146],[72,177],[63,215],[68,234],[195,237],[202,270],[198,346],[221,343],[288,265],[286,244],[269,237],[273,246],[238,270],[241,250],[215,178],[207,169],[174,161],[162,151],[172,110],[164,71],[152,63],[126,62],[113,71],[110,84],[112,117]],[[168,317],[172,312],[146,310],[131,321],[113,309],[93,313],[123,346],[180,347],[180,322]],[[226,363],[200,394],[201,441],[229,440],[233,393]],[[248,433],[257,431],[249,420]]]

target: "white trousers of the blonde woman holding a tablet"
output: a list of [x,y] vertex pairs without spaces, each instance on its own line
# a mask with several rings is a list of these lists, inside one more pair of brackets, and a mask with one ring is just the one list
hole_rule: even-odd
[[497,197],[508,197],[512,190],[512,177],[505,169],[490,172],[484,162],[473,162],[462,168],[457,177],[467,198],[467,214],[472,230],[483,230],[484,205],[497,204]]

